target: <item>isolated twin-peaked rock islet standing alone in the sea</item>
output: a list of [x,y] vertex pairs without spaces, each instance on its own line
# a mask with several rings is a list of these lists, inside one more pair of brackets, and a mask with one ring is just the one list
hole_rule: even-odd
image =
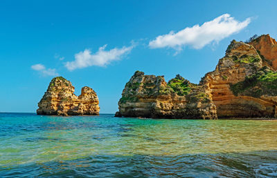
[[81,95],[74,94],[75,88],[63,77],[55,77],[39,101],[37,115],[99,115],[96,92],[85,86]]

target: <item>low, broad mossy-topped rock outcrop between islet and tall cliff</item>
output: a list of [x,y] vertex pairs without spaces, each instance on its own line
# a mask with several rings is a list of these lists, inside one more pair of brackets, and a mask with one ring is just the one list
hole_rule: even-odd
[[118,105],[117,117],[217,119],[215,105],[204,88],[179,75],[166,83],[163,76],[136,71]]

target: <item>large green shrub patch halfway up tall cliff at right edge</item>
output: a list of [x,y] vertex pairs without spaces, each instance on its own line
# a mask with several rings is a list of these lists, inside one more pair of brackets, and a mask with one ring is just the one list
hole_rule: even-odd
[[260,97],[261,95],[277,95],[277,72],[267,66],[262,67],[255,74],[245,77],[244,81],[231,84],[234,95]]

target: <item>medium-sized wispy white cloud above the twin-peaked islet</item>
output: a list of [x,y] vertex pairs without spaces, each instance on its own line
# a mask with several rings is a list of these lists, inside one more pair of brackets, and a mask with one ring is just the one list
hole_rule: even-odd
[[102,46],[94,54],[91,54],[91,50],[85,49],[82,52],[75,54],[75,61],[66,62],[65,66],[68,70],[72,71],[77,68],[87,68],[89,66],[107,66],[111,61],[119,60],[123,55],[127,54],[134,48],[129,46],[123,48],[114,48],[111,50],[105,50],[107,45]]

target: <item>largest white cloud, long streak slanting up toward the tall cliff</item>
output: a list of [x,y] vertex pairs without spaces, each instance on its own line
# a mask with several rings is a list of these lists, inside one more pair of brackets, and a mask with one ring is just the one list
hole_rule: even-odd
[[192,46],[200,49],[208,43],[218,43],[220,40],[229,37],[231,34],[240,32],[247,27],[251,19],[245,21],[236,21],[230,14],[222,14],[220,17],[207,21],[199,26],[187,27],[179,32],[171,31],[169,34],[163,34],[150,41],[150,48],[175,48],[181,50],[184,46]]

